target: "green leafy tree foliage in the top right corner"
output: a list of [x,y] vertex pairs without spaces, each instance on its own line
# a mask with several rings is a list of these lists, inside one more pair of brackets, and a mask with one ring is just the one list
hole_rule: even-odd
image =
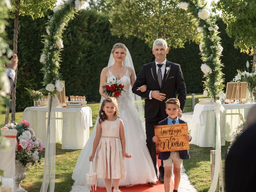
[[256,1],[220,0],[214,11],[222,11],[222,20],[227,25],[228,36],[234,38],[234,46],[242,52],[252,51],[256,46]]

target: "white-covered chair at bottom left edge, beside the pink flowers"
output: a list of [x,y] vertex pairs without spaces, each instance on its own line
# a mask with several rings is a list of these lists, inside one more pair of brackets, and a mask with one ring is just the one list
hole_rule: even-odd
[[17,145],[16,129],[1,130],[2,136],[10,141],[10,150],[0,150],[0,169],[4,170],[2,186],[9,186],[15,192],[15,149]]

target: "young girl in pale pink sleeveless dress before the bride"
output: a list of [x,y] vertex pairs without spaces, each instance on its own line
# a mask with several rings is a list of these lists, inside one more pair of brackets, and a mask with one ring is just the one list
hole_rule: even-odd
[[125,151],[124,124],[118,118],[118,104],[115,98],[107,97],[103,100],[97,125],[96,136],[93,142],[92,161],[96,152],[95,170],[97,178],[105,180],[107,192],[119,190],[120,179],[125,179],[126,168],[124,157],[131,158]]

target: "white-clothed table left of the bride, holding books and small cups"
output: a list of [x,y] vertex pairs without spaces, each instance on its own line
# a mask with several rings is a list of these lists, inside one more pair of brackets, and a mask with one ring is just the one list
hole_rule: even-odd
[[[55,128],[56,142],[62,144],[62,149],[82,149],[90,136],[92,126],[92,110],[90,107],[62,108],[56,107]],[[46,125],[48,107],[27,107],[23,119],[30,122],[31,128],[46,144]]]

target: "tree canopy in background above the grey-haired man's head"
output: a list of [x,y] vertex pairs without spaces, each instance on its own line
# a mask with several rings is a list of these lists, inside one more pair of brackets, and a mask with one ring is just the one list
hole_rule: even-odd
[[197,21],[178,8],[177,0],[113,0],[110,10],[112,33],[135,36],[150,46],[164,38],[169,47],[184,48],[188,41],[198,42]]

